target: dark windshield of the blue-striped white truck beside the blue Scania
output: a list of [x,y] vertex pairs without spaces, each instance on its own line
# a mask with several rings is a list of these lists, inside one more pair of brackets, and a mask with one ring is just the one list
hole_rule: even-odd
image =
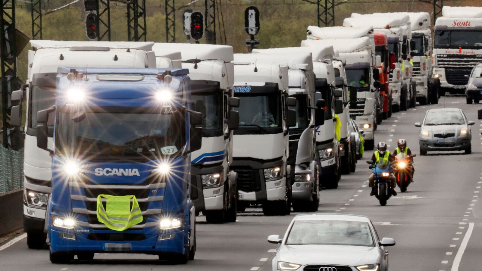
[[202,130],[223,128],[223,95],[221,93],[196,93],[191,95],[196,103],[196,111],[202,113]]

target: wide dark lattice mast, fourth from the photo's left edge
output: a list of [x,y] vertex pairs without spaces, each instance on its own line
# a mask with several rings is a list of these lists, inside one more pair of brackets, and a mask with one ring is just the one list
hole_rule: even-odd
[[[140,19],[140,20],[139,20]],[[128,41],[147,41],[146,0],[127,1]]]

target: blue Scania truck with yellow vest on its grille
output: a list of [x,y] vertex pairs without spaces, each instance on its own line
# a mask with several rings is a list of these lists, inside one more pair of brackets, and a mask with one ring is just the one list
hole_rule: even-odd
[[[190,153],[201,148],[187,69],[59,68],[38,112],[52,156],[50,260],[143,253],[186,263],[196,250]],[[54,124],[54,148],[47,126]]]

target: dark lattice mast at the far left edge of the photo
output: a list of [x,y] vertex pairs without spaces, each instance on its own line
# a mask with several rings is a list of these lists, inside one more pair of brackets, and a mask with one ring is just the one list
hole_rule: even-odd
[[[10,121],[10,97],[13,91],[13,80],[17,77],[17,59],[15,42],[15,0],[1,0],[0,4],[0,44],[1,44],[1,120],[3,146],[8,149]],[[13,143],[13,142],[12,142]]]

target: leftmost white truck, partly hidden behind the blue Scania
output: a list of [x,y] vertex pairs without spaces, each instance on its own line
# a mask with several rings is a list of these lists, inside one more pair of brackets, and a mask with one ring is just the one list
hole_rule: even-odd
[[[154,42],[30,41],[27,73],[27,117],[24,161],[24,230],[29,248],[45,244],[47,203],[51,194],[52,158],[37,147],[37,112],[55,101],[58,67],[156,67]],[[49,123],[49,149],[53,148],[53,121]]]

